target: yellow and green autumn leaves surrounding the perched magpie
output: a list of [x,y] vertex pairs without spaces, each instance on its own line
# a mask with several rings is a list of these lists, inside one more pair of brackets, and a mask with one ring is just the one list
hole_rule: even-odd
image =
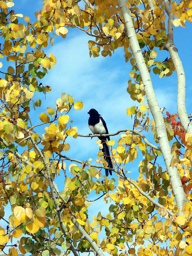
[[[31,23],[30,17],[23,18],[14,12],[12,0],[0,1],[1,255],[77,256],[87,252],[99,256],[189,256],[191,133],[184,130],[177,114],[165,115],[164,109],[160,111],[171,145],[168,167],[176,167],[180,187],[186,194],[179,209],[172,191],[174,182],[170,183],[171,177],[162,164],[165,159],[159,146],[161,138],[150,115],[120,1],[85,0],[83,9],[78,2],[44,0],[42,10],[36,10],[36,21]],[[161,0],[125,3],[148,72],[159,79],[171,76],[176,68],[171,56],[158,60],[159,50],[168,49],[166,17],[172,17],[174,26],[185,27],[185,22],[192,20],[192,1],[172,1],[169,8]],[[41,100],[34,100],[38,93],[52,93],[41,79],[56,65],[56,58],[52,53],[45,54],[44,48],[53,45],[56,35],[65,39],[71,28],[90,36],[90,57],[111,56],[123,47],[125,62],[132,65],[127,97],[135,105],[127,109],[125,117],[131,117],[133,125],[120,131],[121,135],[117,132],[117,137],[111,135],[108,142],[114,165],[112,177],[104,175],[108,167],[99,151],[100,140],[96,163],[88,153],[83,161],[70,158],[68,138],[75,144],[78,136],[86,137],[78,134],[77,127],[70,122],[70,110],[83,108],[78,93],[72,97],[63,92],[54,107],[47,106],[36,123],[31,121],[34,111],[41,108]],[[8,68],[4,68],[7,64]],[[154,140],[149,142],[151,132]],[[73,163],[69,165],[69,161]],[[136,180],[128,176],[133,162],[138,166]],[[63,180],[62,191],[54,181],[58,176]],[[96,195],[94,200],[98,204],[107,205],[107,214],[101,207],[91,215],[92,195]]]

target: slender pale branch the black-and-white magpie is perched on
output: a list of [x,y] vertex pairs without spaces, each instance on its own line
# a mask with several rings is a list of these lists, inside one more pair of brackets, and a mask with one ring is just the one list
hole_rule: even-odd
[[[156,150],[161,150],[159,147],[157,147],[156,145],[153,145],[151,142],[149,142],[149,141],[147,140],[147,138],[145,137],[145,135],[143,135],[141,132],[138,132],[138,131],[135,130],[135,129],[134,129],[134,131],[133,131],[133,129],[123,129],[123,130],[119,130],[119,131],[114,132],[114,133],[102,134],[102,137],[115,136],[115,135],[119,134],[120,132],[127,132],[127,131],[130,131],[130,132],[133,132],[133,133],[139,135],[139,136],[145,141],[145,143],[146,143],[149,147],[154,148],[154,149],[156,149]],[[99,137],[100,134],[91,134],[91,135],[78,134],[77,136],[78,136],[78,137],[91,137],[91,138],[93,138],[93,137]]]

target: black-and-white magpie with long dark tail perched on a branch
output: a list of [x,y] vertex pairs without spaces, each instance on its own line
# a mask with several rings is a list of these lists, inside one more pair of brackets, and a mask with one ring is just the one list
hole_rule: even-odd
[[[107,145],[107,139],[110,140],[108,137],[103,137],[102,134],[108,134],[107,125],[105,123],[105,120],[103,117],[95,110],[94,108],[90,109],[87,113],[90,115],[88,125],[90,130],[93,134],[100,134],[98,138],[101,140],[101,143],[103,144],[102,152],[104,153],[104,159],[108,163],[108,167],[113,168],[113,164],[111,162],[111,157],[109,153],[109,148]],[[105,169],[105,174],[108,176],[108,174],[112,175],[112,171]]]

